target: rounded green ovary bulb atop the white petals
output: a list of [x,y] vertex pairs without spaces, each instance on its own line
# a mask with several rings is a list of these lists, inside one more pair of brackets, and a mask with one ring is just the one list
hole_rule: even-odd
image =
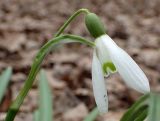
[[88,13],[85,17],[85,23],[93,37],[97,38],[105,34],[104,26],[96,14]]

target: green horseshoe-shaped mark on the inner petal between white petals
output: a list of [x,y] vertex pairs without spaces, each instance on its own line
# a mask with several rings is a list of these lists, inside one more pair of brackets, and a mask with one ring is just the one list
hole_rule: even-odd
[[109,72],[115,72],[116,71],[116,67],[114,66],[114,64],[112,62],[106,62],[103,64],[103,72],[105,74],[109,74]]

